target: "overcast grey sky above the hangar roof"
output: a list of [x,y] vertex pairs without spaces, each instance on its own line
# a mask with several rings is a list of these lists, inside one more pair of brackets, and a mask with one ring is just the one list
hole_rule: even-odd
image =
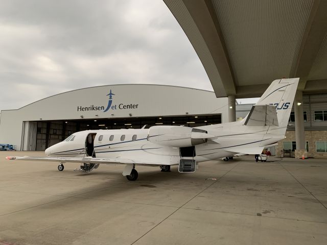
[[0,110],[106,84],[212,90],[191,43],[161,0],[3,0],[0,48]]

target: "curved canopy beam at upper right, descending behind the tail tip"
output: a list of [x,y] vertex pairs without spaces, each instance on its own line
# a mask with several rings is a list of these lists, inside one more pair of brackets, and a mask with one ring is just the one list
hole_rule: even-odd
[[300,78],[298,90],[304,90],[312,65],[327,33],[327,1],[314,0],[302,37],[291,77]]

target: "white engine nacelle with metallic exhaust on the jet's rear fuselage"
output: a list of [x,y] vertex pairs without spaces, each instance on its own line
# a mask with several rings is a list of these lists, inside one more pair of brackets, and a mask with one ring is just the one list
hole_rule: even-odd
[[181,126],[152,126],[148,134],[151,143],[172,147],[202,144],[212,137],[205,130]]

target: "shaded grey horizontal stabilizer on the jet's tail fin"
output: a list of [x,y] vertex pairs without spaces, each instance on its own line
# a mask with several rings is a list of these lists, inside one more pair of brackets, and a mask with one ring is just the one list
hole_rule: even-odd
[[278,126],[276,107],[273,105],[254,105],[248,114],[246,126]]

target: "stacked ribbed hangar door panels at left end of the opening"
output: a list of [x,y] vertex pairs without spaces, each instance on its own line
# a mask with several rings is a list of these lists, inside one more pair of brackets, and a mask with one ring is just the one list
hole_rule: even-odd
[[21,134],[21,151],[35,151],[36,149],[37,122],[24,121]]

